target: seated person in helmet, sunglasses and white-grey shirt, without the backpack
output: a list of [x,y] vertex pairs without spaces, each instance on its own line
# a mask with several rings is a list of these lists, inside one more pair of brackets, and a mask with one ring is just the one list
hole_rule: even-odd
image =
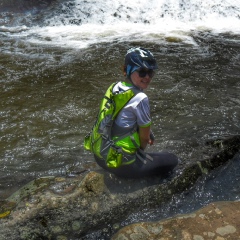
[[[154,137],[150,130],[149,100],[143,91],[149,86],[155,69],[157,69],[157,63],[149,50],[141,47],[131,48],[125,56],[124,75],[126,78],[111,88],[111,93],[115,96],[122,96],[121,94],[129,90],[134,93],[131,98],[127,99],[126,104],[114,119],[111,141],[109,141],[114,141],[117,147],[125,153],[124,161],[121,160],[119,166],[111,167],[111,164],[102,157],[96,154],[94,157],[99,166],[119,177],[139,178],[165,175],[178,164],[178,157],[173,153],[146,153],[144,151],[148,144],[153,144]],[[122,101],[121,97],[118,99],[120,99],[119,102]]]

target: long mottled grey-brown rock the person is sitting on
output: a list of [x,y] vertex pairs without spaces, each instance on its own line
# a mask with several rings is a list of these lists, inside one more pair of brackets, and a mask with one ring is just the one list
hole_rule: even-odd
[[[217,150],[211,158],[179,166],[177,174],[164,180],[159,177],[119,179],[105,171],[104,174],[84,172],[72,178],[35,179],[1,202],[0,236],[4,240],[79,239],[117,223],[133,212],[156,208],[174,194],[190,188],[203,174],[232,159],[240,149],[240,136],[211,141],[208,145]],[[180,222],[178,220],[175,224]],[[216,230],[218,234],[226,229],[233,230],[232,227],[225,229],[227,225],[236,228],[224,223]],[[131,232],[131,237],[138,237],[139,232],[148,235],[149,229],[156,234],[161,230],[155,225],[147,229],[139,225],[136,229]],[[198,234],[196,236],[203,236]]]

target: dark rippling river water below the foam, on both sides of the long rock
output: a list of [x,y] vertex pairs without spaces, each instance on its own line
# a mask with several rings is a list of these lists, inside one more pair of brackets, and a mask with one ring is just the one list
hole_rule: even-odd
[[[156,136],[150,151],[167,149],[188,164],[208,157],[206,140],[240,134],[237,33],[198,29],[186,33],[191,42],[159,34],[154,41],[116,38],[76,48],[34,32],[24,35],[26,28],[16,18],[12,22],[14,28],[0,28],[2,199],[35,177],[65,175],[72,166],[98,168],[83,139],[107,87],[123,79],[123,57],[132,46],[149,48],[159,65],[146,91]],[[36,36],[39,42],[29,41]],[[129,216],[122,225],[239,199],[239,160],[238,155],[169,205]]]

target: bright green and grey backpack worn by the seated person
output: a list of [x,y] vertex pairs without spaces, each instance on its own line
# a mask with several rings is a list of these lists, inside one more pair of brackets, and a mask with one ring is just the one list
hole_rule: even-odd
[[84,139],[86,150],[104,159],[110,168],[131,164],[135,161],[135,153],[140,147],[137,129],[112,138],[112,126],[120,110],[138,92],[128,89],[121,93],[113,93],[113,83],[106,91],[98,112],[96,122],[91,132]]

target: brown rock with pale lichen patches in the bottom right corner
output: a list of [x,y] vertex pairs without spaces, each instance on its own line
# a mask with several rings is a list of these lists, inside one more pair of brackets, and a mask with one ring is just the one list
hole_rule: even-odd
[[240,202],[216,202],[191,214],[160,222],[131,224],[111,240],[239,239]]

